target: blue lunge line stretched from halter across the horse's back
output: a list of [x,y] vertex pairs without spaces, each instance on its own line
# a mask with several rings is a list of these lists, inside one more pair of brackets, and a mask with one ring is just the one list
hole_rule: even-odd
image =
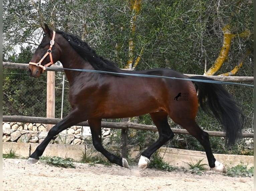
[[[54,67],[51,67],[51,68],[54,68]],[[172,80],[188,80],[188,81],[205,82],[205,83],[213,83],[213,84],[230,84],[230,85],[241,85],[241,86],[254,87],[254,85],[249,85],[249,84],[240,84],[240,83],[234,83],[234,82],[222,82],[222,81],[213,81],[213,80],[197,80],[197,79],[175,78],[175,77],[167,77],[167,76],[155,76],[155,75],[147,75],[147,74],[117,73],[117,72],[107,72],[107,71],[100,71],[100,70],[86,70],[86,69],[69,69],[69,68],[58,68],[58,69],[75,70],[75,71],[80,71],[80,72],[94,72],[94,73],[103,73],[103,74],[117,74],[117,75],[125,75],[125,76],[137,76],[137,77],[146,77],[146,78],[167,78],[167,79],[172,79]]]

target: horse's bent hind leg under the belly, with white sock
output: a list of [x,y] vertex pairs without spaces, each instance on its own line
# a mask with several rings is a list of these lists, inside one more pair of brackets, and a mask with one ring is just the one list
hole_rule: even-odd
[[149,146],[145,151],[142,152],[138,166],[140,169],[147,167],[150,156],[159,149],[164,143],[173,138],[174,134],[168,124],[167,116],[168,114],[165,111],[158,111],[150,113],[153,122],[155,123],[159,138],[158,140]]

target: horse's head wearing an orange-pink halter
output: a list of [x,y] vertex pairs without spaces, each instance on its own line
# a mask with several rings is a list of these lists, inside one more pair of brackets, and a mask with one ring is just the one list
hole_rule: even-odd
[[45,24],[43,28],[43,39],[37,47],[29,66],[27,73],[30,77],[38,78],[44,72],[46,67],[51,66],[59,60],[60,51],[55,43],[55,32],[50,30]]

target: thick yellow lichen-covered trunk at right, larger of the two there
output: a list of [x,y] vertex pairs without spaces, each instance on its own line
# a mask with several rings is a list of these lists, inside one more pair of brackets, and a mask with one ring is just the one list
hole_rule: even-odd
[[207,75],[207,76],[214,75],[221,68],[224,61],[227,59],[231,40],[234,37],[234,35],[231,34],[229,25],[226,25],[225,27],[223,27],[222,31],[224,33],[224,38],[223,38],[223,45],[222,45],[220,54],[216,59],[214,65],[207,72],[205,72],[204,75]]

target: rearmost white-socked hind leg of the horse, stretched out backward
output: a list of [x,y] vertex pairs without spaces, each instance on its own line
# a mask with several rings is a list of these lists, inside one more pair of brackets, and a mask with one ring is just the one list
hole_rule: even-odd
[[205,152],[206,152],[209,166],[218,172],[227,173],[226,167],[222,163],[217,161],[213,156],[212,148],[211,148],[211,144],[210,144],[210,140],[209,140],[209,134],[207,132],[203,131],[198,126],[198,124],[196,123],[195,120],[189,121],[189,120],[183,119],[182,123],[179,123],[179,124],[183,128],[185,128],[192,136],[194,136],[203,145]]

